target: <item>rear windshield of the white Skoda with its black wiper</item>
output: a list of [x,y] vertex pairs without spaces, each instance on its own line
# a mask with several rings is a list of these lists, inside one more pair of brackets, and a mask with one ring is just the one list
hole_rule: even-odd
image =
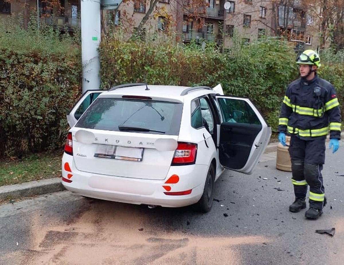
[[126,131],[140,133],[179,135],[182,110],[182,103],[98,97],[75,126],[110,131],[125,128]]

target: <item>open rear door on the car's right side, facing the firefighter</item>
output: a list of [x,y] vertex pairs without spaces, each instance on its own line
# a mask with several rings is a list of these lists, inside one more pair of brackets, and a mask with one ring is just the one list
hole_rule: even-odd
[[251,174],[268,145],[271,127],[247,98],[217,95],[216,101],[221,112],[220,163]]

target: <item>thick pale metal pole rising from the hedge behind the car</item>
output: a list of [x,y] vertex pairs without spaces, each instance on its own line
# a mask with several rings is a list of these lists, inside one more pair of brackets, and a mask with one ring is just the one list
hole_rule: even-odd
[[99,89],[100,0],[81,0],[81,58],[83,93]]

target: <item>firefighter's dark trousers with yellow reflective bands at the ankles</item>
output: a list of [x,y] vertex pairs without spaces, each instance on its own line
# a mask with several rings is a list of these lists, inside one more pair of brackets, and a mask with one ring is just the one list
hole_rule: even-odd
[[326,136],[306,141],[291,136],[289,146],[295,197],[305,198],[309,185],[309,205],[316,209],[322,209],[326,203],[321,174],[325,163],[325,139]]

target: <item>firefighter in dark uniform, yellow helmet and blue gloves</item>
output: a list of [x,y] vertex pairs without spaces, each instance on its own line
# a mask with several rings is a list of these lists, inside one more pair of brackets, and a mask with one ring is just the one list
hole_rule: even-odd
[[290,83],[284,96],[279,117],[279,141],[286,146],[290,135],[292,183],[295,201],[291,212],[306,208],[306,194],[310,186],[308,219],[318,219],[326,204],[321,170],[325,163],[325,140],[330,130],[332,153],[339,148],[341,112],[333,85],[318,77],[319,55],[305,50],[296,60],[301,78]]

